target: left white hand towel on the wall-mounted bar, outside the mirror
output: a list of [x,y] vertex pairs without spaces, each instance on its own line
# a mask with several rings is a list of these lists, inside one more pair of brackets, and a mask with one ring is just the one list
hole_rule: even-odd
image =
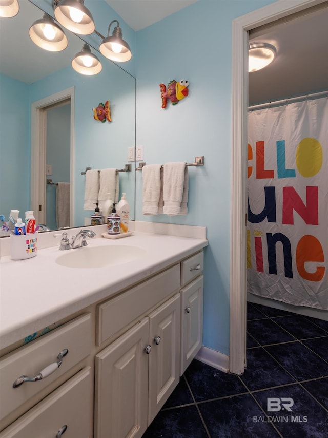
[[160,195],[161,164],[150,164],[142,167],[142,213],[157,215]]

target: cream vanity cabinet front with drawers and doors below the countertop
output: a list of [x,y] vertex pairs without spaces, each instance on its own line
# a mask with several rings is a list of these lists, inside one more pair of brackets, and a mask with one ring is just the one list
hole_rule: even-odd
[[141,437],[202,345],[202,268],[200,251],[3,356],[0,438]]

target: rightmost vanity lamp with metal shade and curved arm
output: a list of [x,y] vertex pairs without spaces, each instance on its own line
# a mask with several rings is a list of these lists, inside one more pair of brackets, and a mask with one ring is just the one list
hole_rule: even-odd
[[[109,36],[113,23],[117,23],[117,26],[114,28],[112,36]],[[129,44],[122,40],[122,30],[117,20],[113,20],[108,26],[107,37],[101,42],[99,50],[106,58],[116,62],[125,62],[132,58]]]

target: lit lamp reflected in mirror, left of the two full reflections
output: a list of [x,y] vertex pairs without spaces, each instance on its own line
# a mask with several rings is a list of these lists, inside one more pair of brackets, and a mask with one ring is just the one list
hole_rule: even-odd
[[68,44],[65,33],[48,14],[32,24],[29,35],[33,43],[51,52],[60,52]]

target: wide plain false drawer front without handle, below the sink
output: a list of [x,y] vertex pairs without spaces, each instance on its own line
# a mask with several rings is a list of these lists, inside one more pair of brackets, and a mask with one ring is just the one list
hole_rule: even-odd
[[97,345],[129,325],[179,288],[180,265],[97,306]]

